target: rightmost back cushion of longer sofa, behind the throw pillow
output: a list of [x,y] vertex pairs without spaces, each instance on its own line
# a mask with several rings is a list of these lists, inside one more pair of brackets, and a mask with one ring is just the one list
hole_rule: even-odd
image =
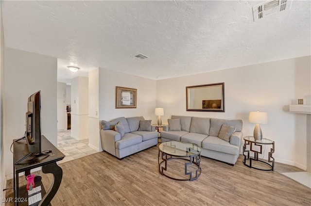
[[241,119],[226,120],[226,119],[210,118],[209,135],[218,137],[219,131],[223,126],[223,124],[235,127],[235,131],[238,132],[242,131],[243,122]]

